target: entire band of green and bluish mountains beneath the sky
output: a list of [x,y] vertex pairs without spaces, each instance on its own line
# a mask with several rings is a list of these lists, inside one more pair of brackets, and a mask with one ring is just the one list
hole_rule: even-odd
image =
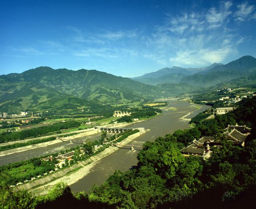
[[133,79],[97,70],[37,67],[0,76],[0,112],[90,109],[95,105],[209,91],[223,86],[256,86],[256,58],[243,56],[226,65],[214,63],[201,68],[166,67]]

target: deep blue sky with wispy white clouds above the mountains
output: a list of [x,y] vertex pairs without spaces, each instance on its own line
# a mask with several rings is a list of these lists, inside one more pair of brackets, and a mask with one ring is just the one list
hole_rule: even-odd
[[49,66],[135,77],[256,57],[256,1],[0,0],[0,74]]

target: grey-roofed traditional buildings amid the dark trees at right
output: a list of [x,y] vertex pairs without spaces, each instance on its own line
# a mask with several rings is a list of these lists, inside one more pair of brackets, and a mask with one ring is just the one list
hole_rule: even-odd
[[[234,146],[244,146],[244,141],[250,134],[251,128],[246,125],[228,125],[223,133],[228,141],[232,142]],[[180,150],[183,156],[201,156],[207,159],[211,156],[211,147],[222,146],[221,142],[214,137],[202,137],[201,139],[194,139],[192,144]]]

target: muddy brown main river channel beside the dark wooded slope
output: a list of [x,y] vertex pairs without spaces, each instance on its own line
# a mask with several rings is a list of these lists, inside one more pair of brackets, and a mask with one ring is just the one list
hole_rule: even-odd
[[[193,111],[192,114],[186,117],[192,118],[199,112],[210,108],[210,106],[204,105],[200,109],[195,109],[192,104],[182,100],[171,100],[169,102],[170,103],[167,107],[163,107],[163,114],[150,120],[127,126],[127,128],[143,127],[145,129],[150,129],[145,134],[135,138],[132,142],[130,142],[130,144],[142,146],[147,141],[153,142],[157,137],[164,137],[166,134],[173,133],[175,130],[189,128],[188,121],[181,120],[179,119],[180,117]],[[170,107],[175,107],[177,109],[168,110]],[[88,192],[94,184],[100,185],[104,183],[115,170],[125,172],[131,169],[133,166],[137,165],[138,153],[138,150],[132,152],[130,149],[119,149],[114,153],[111,153],[110,155],[99,160],[90,170],[89,174],[72,184],[70,186],[71,190],[75,192]]]

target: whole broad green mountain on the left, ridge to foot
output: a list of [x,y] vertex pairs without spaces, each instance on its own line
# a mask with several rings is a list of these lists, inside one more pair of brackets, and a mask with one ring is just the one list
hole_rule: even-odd
[[0,111],[88,108],[161,97],[161,89],[97,70],[38,67],[0,76]]

